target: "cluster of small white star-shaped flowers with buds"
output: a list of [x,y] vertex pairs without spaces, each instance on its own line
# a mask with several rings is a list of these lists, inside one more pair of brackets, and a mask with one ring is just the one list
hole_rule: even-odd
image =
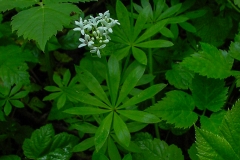
[[78,48],[88,46],[91,53],[97,53],[101,58],[100,49],[104,48],[106,44],[111,40],[109,33],[112,33],[112,27],[116,24],[120,25],[117,20],[110,18],[109,11],[105,13],[99,13],[99,16],[92,17],[88,20],[75,21],[78,26],[74,28],[74,31],[80,31],[84,38],[79,38],[81,44]]

